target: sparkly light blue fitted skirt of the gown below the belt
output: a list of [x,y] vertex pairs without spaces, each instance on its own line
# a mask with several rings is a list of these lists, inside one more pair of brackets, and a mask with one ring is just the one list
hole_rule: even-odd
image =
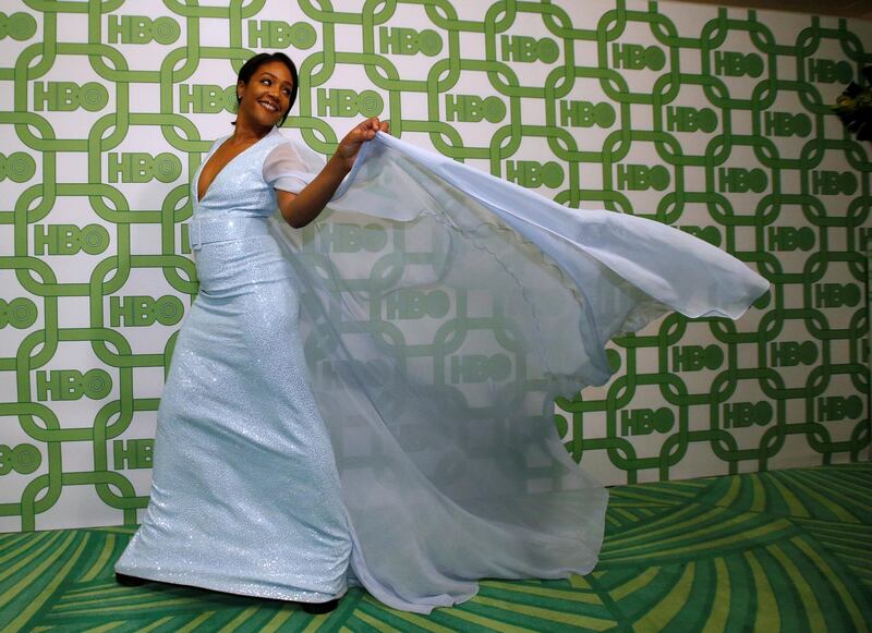
[[160,402],[131,574],[287,600],[346,589],[348,516],[310,389],[292,269],[269,235],[205,244]]

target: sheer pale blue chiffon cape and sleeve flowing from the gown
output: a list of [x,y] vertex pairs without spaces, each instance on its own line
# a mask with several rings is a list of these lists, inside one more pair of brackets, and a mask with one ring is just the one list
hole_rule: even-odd
[[[299,192],[323,159],[282,143],[264,176]],[[738,318],[766,281],[674,228],[576,210],[378,134],[328,208],[270,231],[301,293],[353,576],[428,612],[479,579],[590,572],[607,492],[553,406],[609,375],[604,346],[666,311]]]

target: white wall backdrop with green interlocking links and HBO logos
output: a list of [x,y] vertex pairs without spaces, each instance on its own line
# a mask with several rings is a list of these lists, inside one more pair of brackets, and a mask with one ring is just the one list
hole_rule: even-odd
[[[4,0],[0,531],[135,523],[145,508],[197,291],[189,178],[232,130],[235,73],[262,50],[296,61],[286,127],[319,153],[377,114],[404,141],[565,205],[653,218],[771,281],[738,322],[669,315],[617,339],[613,380],[558,400],[566,449],[605,483],[869,459],[872,146],[829,107],[872,63],[871,35],[669,2]],[[366,261],[390,243],[351,223],[306,231],[306,248]],[[392,301],[409,319],[456,308]],[[439,362],[462,385],[510,379],[518,361]]]

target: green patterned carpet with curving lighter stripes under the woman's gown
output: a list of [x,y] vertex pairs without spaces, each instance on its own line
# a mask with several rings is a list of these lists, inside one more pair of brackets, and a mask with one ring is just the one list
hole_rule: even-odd
[[596,572],[482,583],[428,617],[114,584],[132,529],[0,535],[0,631],[868,631],[872,464],[611,489]]

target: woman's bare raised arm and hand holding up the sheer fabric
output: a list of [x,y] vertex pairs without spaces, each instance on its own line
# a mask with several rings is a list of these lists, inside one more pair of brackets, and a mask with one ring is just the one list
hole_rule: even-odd
[[339,142],[339,147],[320,173],[299,194],[276,190],[281,217],[294,229],[301,229],[318,217],[339,188],[342,179],[351,171],[361,146],[375,138],[376,132],[389,132],[387,121],[378,117],[367,119],[355,126]]

